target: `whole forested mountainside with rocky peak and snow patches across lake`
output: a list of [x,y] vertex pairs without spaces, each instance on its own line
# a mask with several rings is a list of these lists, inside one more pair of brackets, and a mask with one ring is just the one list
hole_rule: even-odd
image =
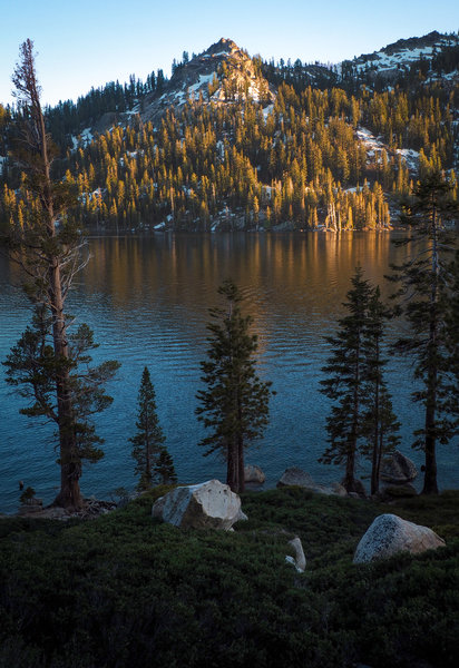
[[[432,32],[339,66],[265,62],[222,39],[167,80],[108,84],[47,109],[56,178],[84,224],[109,229],[388,228],[430,169],[455,185],[459,38]],[[3,222],[33,214],[8,159]]]

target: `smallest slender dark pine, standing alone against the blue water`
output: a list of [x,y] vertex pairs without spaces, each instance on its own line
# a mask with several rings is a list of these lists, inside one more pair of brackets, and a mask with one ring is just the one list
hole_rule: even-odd
[[[138,488],[146,490],[153,484],[154,466],[162,456],[162,452],[165,451],[163,445],[165,438],[156,413],[155,389],[146,366],[141,374],[137,404],[136,426],[138,431],[129,441],[133,443],[133,458],[137,462],[135,471],[140,477]],[[164,462],[163,454],[163,464]]]

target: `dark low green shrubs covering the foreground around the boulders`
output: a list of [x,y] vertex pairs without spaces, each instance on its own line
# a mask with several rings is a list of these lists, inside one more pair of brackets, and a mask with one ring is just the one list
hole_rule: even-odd
[[[89,522],[0,521],[1,668],[457,665],[459,492],[397,507],[247,493],[234,533],[153,521],[163,492]],[[382,512],[448,547],[353,566]],[[285,562],[293,536],[303,574]]]

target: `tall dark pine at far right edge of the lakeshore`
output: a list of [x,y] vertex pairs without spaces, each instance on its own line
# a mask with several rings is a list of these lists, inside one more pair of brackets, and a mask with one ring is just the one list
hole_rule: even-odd
[[412,397],[424,407],[424,424],[414,432],[413,448],[424,451],[424,494],[438,493],[437,442],[446,444],[455,434],[447,396],[446,362],[446,320],[450,297],[447,258],[453,247],[453,234],[445,226],[445,220],[457,215],[451,189],[450,184],[436,171],[418,183],[403,216],[411,234],[397,242],[414,246],[414,255],[402,265],[392,265],[393,274],[390,276],[401,283],[397,294],[406,298],[399,313],[404,313],[410,327],[409,336],[400,337],[394,350],[416,360],[414,379],[421,384]]

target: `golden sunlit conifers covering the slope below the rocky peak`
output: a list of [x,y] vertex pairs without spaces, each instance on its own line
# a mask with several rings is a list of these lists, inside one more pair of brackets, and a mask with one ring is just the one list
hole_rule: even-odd
[[[268,69],[257,58],[252,62],[255,71]],[[290,69],[300,77],[297,62]],[[108,106],[140,109],[145,95],[164,86],[162,72],[145,85],[133,77],[129,86],[91,91],[76,108],[91,119]],[[351,92],[281,82],[264,108],[250,99],[217,105],[201,96],[169,108],[155,127],[131,115],[128,125],[68,146],[56,176],[75,185],[75,215],[89,225],[222,229],[233,228],[236,214],[245,228],[284,222],[296,229],[387,228],[397,197],[431,169],[453,165],[457,88],[377,92],[363,86]],[[49,110],[49,128],[60,136],[65,128],[56,119],[59,114]],[[359,128],[377,143],[362,140]],[[3,179],[3,218],[22,219],[28,195],[11,193],[20,175],[10,170]]]

